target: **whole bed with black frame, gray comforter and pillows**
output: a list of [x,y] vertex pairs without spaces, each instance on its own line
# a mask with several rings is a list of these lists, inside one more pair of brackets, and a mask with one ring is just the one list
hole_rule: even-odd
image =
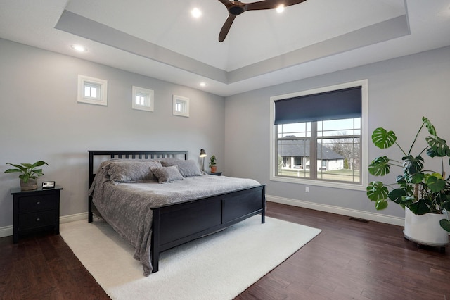
[[95,214],[132,244],[146,276],[162,251],[253,215],[265,222],[265,185],[207,175],[188,151],[88,152],[89,223]]

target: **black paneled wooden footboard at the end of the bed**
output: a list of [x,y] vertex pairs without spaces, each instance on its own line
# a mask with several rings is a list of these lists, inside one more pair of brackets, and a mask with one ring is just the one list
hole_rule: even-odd
[[158,271],[160,253],[261,213],[265,222],[265,185],[152,208],[151,263]]

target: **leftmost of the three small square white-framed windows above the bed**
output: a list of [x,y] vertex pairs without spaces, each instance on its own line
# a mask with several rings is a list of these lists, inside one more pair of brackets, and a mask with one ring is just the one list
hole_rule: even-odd
[[78,102],[107,105],[108,81],[78,75]]

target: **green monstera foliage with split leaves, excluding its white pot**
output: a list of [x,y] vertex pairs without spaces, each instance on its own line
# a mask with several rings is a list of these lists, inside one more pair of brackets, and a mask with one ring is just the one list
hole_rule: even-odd
[[[411,154],[413,146],[416,144],[418,136],[424,127],[430,134],[425,137],[427,146],[417,156],[413,156]],[[444,139],[437,136],[435,127],[428,118],[422,118],[422,125],[416,137],[414,137],[408,152],[405,152],[397,144],[397,135],[393,131],[385,130],[383,127],[378,127],[373,131],[372,142],[380,149],[387,149],[396,145],[402,154],[401,160],[380,156],[368,165],[368,172],[375,176],[389,174],[391,166],[403,169],[403,173],[398,175],[396,182],[392,184],[385,185],[381,181],[369,183],[366,188],[366,194],[368,199],[375,201],[377,210],[387,208],[389,199],[403,208],[409,208],[416,215],[450,211],[450,177],[445,178],[444,172],[444,163],[450,164],[450,148]],[[440,173],[433,170],[424,170],[424,153],[430,158],[441,159],[442,170]],[[446,158],[446,161],[444,161],[444,158]],[[444,230],[450,232],[450,220],[442,219],[440,225]]]

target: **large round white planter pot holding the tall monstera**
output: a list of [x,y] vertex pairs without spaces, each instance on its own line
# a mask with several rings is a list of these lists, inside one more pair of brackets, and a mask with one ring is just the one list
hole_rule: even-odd
[[446,215],[437,213],[415,215],[411,213],[409,208],[405,208],[404,236],[417,244],[446,246],[446,244],[449,244],[449,232],[446,232],[439,225],[439,220],[444,218],[446,218]]

